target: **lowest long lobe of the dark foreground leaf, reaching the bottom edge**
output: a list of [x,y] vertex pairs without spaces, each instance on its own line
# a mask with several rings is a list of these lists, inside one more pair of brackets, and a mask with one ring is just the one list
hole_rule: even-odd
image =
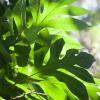
[[72,93],[74,93],[79,99],[82,100],[89,100],[87,90],[83,83],[76,80],[70,75],[61,73],[61,72],[55,72],[55,77],[57,77],[58,80],[65,82],[68,88]]

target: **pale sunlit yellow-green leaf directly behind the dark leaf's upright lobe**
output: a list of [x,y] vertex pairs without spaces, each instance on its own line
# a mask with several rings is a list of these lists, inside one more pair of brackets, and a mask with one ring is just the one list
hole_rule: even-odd
[[59,36],[59,38],[63,38],[65,45],[63,47],[62,53],[65,54],[66,50],[68,49],[81,49],[83,46],[79,43],[78,40],[76,40],[74,37],[71,37],[69,34],[66,34],[66,32],[61,30],[56,30],[52,28],[48,28],[50,35],[56,35]]

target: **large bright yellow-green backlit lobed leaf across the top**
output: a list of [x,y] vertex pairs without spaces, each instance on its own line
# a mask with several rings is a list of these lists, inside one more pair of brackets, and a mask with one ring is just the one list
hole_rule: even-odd
[[14,31],[12,23],[14,20],[18,34],[25,31],[26,38],[30,43],[33,43],[39,31],[46,27],[64,29],[65,31],[81,30],[88,27],[87,24],[75,18],[63,18],[66,15],[78,16],[87,13],[84,8],[68,5],[74,1],[18,0],[12,10],[7,10],[5,16],[8,16],[11,32]]

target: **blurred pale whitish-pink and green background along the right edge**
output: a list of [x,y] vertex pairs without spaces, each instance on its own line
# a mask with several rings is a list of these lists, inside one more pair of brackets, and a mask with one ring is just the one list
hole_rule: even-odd
[[85,20],[90,27],[70,35],[84,46],[83,51],[95,57],[96,61],[89,71],[94,77],[100,78],[100,0],[78,0],[75,5],[81,5],[89,10],[88,14],[77,18]]

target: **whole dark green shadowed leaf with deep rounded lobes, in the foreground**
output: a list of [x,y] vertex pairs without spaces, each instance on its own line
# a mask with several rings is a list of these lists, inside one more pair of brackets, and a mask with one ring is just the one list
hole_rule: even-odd
[[[93,78],[91,77],[91,75],[84,69],[85,67],[83,67],[84,63],[86,65],[91,65],[92,62],[94,61],[93,57],[89,54],[86,54],[84,52],[78,52],[78,50],[76,49],[70,49],[66,52],[65,56],[60,59],[60,53],[61,50],[64,46],[64,40],[62,38],[56,40],[53,44],[51,43],[50,46],[50,58],[48,60],[48,62],[46,63],[46,65],[43,65],[43,61],[44,61],[44,56],[47,53],[47,50],[45,50],[45,48],[48,46],[41,44],[41,42],[39,43],[35,43],[35,47],[34,47],[34,63],[35,66],[37,66],[37,69],[40,71],[40,73],[44,74],[44,75],[53,75],[55,77],[57,77],[57,79],[64,81],[65,79],[65,83],[68,86],[68,88],[79,98],[84,98],[86,100],[88,100],[88,95],[85,89],[85,86],[79,82],[78,80],[76,80],[75,78],[68,76],[67,74],[61,74],[59,72],[57,72],[56,74],[56,70],[59,68],[62,69],[66,69],[67,71],[71,72],[72,74],[76,75],[78,78],[87,81],[87,82],[92,82],[94,83]],[[80,54],[83,55],[87,55],[89,56],[89,61],[88,62],[84,62],[83,64],[79,64],[78,62],[81,61],[82,56],[80,59],[78,59],[78,56],[80,56]],[[37,56],[36,56],[37,55]],[[84,59],[84,57],[83,57]],[[85,60],[85,59],[84,59]],[[79,65],[80,67],[76,67],[74,65]],[[83,68],[81,68],[83,67]],[[59,76],[58,76],[59,75]],[[86,76],[85,76],[86,75]],[[63,78],[62,78],[63,77]],[[72,85],[70,85],[72,84]],[[77,85],[77,86],[75,86]],[[72,87],[73,86],[73,87]],[[75,88],[77,87],[77,88]],[[80,87],[82,88],[83,93],[80,93]],[[75,88],[75,90],[74,90]],[[77,91],[77,92],[76,92]]]

